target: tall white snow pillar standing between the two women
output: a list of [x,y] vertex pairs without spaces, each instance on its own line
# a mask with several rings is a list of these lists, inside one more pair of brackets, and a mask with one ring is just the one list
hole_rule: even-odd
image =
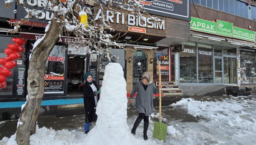
[[126,81],[118,63],[109,63],[105,67],[96,114],[98,120],[86,136],[86,144],[134,144],[127,125]]

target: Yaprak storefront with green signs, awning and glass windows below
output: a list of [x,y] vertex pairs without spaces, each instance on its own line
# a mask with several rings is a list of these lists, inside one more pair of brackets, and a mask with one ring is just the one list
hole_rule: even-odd
[[[176,48],[180,85],[254,83],[255,32],[191,17],[190,41]],[[237,40],[241,39],[241,40]],[[250,42],[251,41],[251,42]],[[247,46],[250,49],[240,48]]]

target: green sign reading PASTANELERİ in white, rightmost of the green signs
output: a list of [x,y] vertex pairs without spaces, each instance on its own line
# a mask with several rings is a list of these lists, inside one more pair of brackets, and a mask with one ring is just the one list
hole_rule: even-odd
[[250,30],[246,30],[246,29],[242,29],[242,28],[238,28],[238,27],[233,27],[233,37],[255,42],[255,32],[254,31],[250,31]]

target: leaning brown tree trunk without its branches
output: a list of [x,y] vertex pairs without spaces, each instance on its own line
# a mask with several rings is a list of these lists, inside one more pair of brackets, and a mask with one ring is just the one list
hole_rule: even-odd
[[[57,17],[56,13],[54,17]],[[45,37],[33,50],[28,69],[27,104],[20,114],[20,122],[23,125],[18,124],[16,132],[19,145],[28,145],[30,135],[36,131],[38,112],[44,95],[45,63],[55,43],[60,39],[60,31],[59,23],[52,19]]]

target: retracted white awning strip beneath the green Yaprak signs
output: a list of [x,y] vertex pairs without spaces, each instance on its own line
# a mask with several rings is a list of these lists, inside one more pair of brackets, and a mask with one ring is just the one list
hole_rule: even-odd
[[226,41],[226,42],[230,42],[232,45],[237,45],[240,47],[248,46],[248,47],[256,48],[256,44],[254,42],[249,42],[249,41],[244,41],[244,40],[220,37],[220,36],[215,36],[215,35],[210,35],[210,34],[205,34],[205,33],[200,33],[200,32],[194,32],[194,31],[190,31],[190,35],[192,35],[193,37],[207,38],[207,39],[215,40],[215,41]]

